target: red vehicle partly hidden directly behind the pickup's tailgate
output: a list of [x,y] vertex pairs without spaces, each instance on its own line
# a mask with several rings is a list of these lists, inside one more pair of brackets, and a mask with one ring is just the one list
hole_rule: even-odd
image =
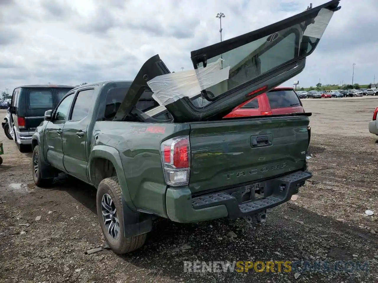
[[274,88],[235,107],[225,118],[305,112],[293,88]]

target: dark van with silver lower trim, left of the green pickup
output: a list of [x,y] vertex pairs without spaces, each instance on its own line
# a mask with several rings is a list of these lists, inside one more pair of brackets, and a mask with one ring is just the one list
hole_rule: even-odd
[[2,126],[5,135],[14,139],[20,152],[30,148],[31,137],[43,121],[45,111],[54,109],[73,88],[65,85],[28,85],[14,89]]

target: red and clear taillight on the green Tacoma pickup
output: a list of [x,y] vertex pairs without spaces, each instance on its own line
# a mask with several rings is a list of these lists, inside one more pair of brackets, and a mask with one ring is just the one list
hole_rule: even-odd
[[189,136],[170,138],[161,143],[161,161],[167,185],[189,184],[190,174]]

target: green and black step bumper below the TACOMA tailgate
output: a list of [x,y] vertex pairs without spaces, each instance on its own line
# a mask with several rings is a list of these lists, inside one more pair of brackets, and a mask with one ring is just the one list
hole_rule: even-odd
[[[298,171],[283,177],[243,185],[225,191],[192,198],[189,188],[168,188],[167,214],[170,220],[180,223],[200,222],[222,217],[231,219],[256,215],[261,211],[290,200],[299,187],[312,177],[310,172]],[[256,187],[257,186],[257,187]],[[254,189],[264,188],[264,198],[254,199]],[[252,198],[242,202],[242,194],[252,191]]]

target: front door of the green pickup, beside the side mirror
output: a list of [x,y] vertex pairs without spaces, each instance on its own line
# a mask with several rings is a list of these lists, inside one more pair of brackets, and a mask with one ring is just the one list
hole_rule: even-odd
[[43,143],[43,151],[48,163],[64,172],[66,170],[63,165],[62,134],[73,98],[73,93],[68,95],[54,110],[51,121],[45,128],[45,142]]

